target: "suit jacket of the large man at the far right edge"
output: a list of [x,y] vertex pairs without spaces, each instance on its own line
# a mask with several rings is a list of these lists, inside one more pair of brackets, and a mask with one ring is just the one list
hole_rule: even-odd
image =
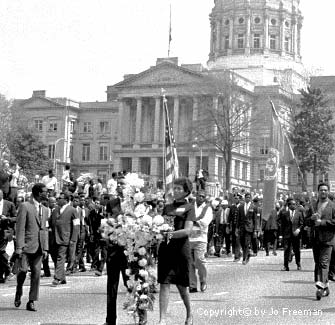
[[312,241],[325,245],[335,244],[335,204],[328,200],[326,208],[321,214],[321,225],[315,227],[315,222],[311,220],[313,211],[317,211],[318,202],[313,202],[312,207],[306,211],[306,225],[311,227]]

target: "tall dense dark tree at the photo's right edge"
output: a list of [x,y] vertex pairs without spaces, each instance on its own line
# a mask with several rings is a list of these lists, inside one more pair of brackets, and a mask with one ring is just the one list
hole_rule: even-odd
[[329,158],[334,153],[335,124],[328,100],[319,88],[308,87],[300,93],[301,103],[293,115],[290,138],[302,173],[313,174],[313,190],[316,191],[317,176],[328,171]]

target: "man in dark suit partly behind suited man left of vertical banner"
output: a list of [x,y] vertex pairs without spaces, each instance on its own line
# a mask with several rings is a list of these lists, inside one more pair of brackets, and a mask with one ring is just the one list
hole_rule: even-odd
[[238,220],[239,220],[239,206],[241,196],[239,194],[234,195],[234,203],[230,207],[228,216],[229,229],[232,235],[232,249],[234,253],[234,262],[238,262],[241,259],[241,243],[240,235],[238,231]]

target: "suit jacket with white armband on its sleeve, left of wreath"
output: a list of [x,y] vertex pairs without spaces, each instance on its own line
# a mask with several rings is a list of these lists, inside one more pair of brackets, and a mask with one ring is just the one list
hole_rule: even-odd
[[57,206],[51,214],[51,229],[57,245],[68,246],[70,241],[77,241],[79,233],[79,218],[72,206],[67,206],[63,213]]

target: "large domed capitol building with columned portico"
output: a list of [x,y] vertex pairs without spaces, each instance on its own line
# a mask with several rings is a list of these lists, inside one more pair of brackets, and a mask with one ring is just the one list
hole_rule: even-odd
[[[230,186],[261,189],[270,145],[270,101],[289,131],[292,98],[308,82],[301,61],[299,2],[215,0],[207,66],[180,63],[177,57],[158,58],[147,70],[108,85],[105,102],[50,98],[38,90],[17,103],[40,133],[59,171],[70,163],[77,174],[92,172],[106,181],[113,171],[128,170],[150,175],[160,184],[163,88],[180,174],[193,180],[201,164],[209,172],[209,181],[225,188],[224,157],[211,143],[197,142],[195,128],[203,118],[204,98],[213,108],[219,105],[222,91],[209,87],[213,76],[228,75],[241,100],[252,103],[248,116],[255,121],[248,130],[250,141],[233,150]],[[301,188],[290,163],[283,160],[280,166],[281,191]]]

